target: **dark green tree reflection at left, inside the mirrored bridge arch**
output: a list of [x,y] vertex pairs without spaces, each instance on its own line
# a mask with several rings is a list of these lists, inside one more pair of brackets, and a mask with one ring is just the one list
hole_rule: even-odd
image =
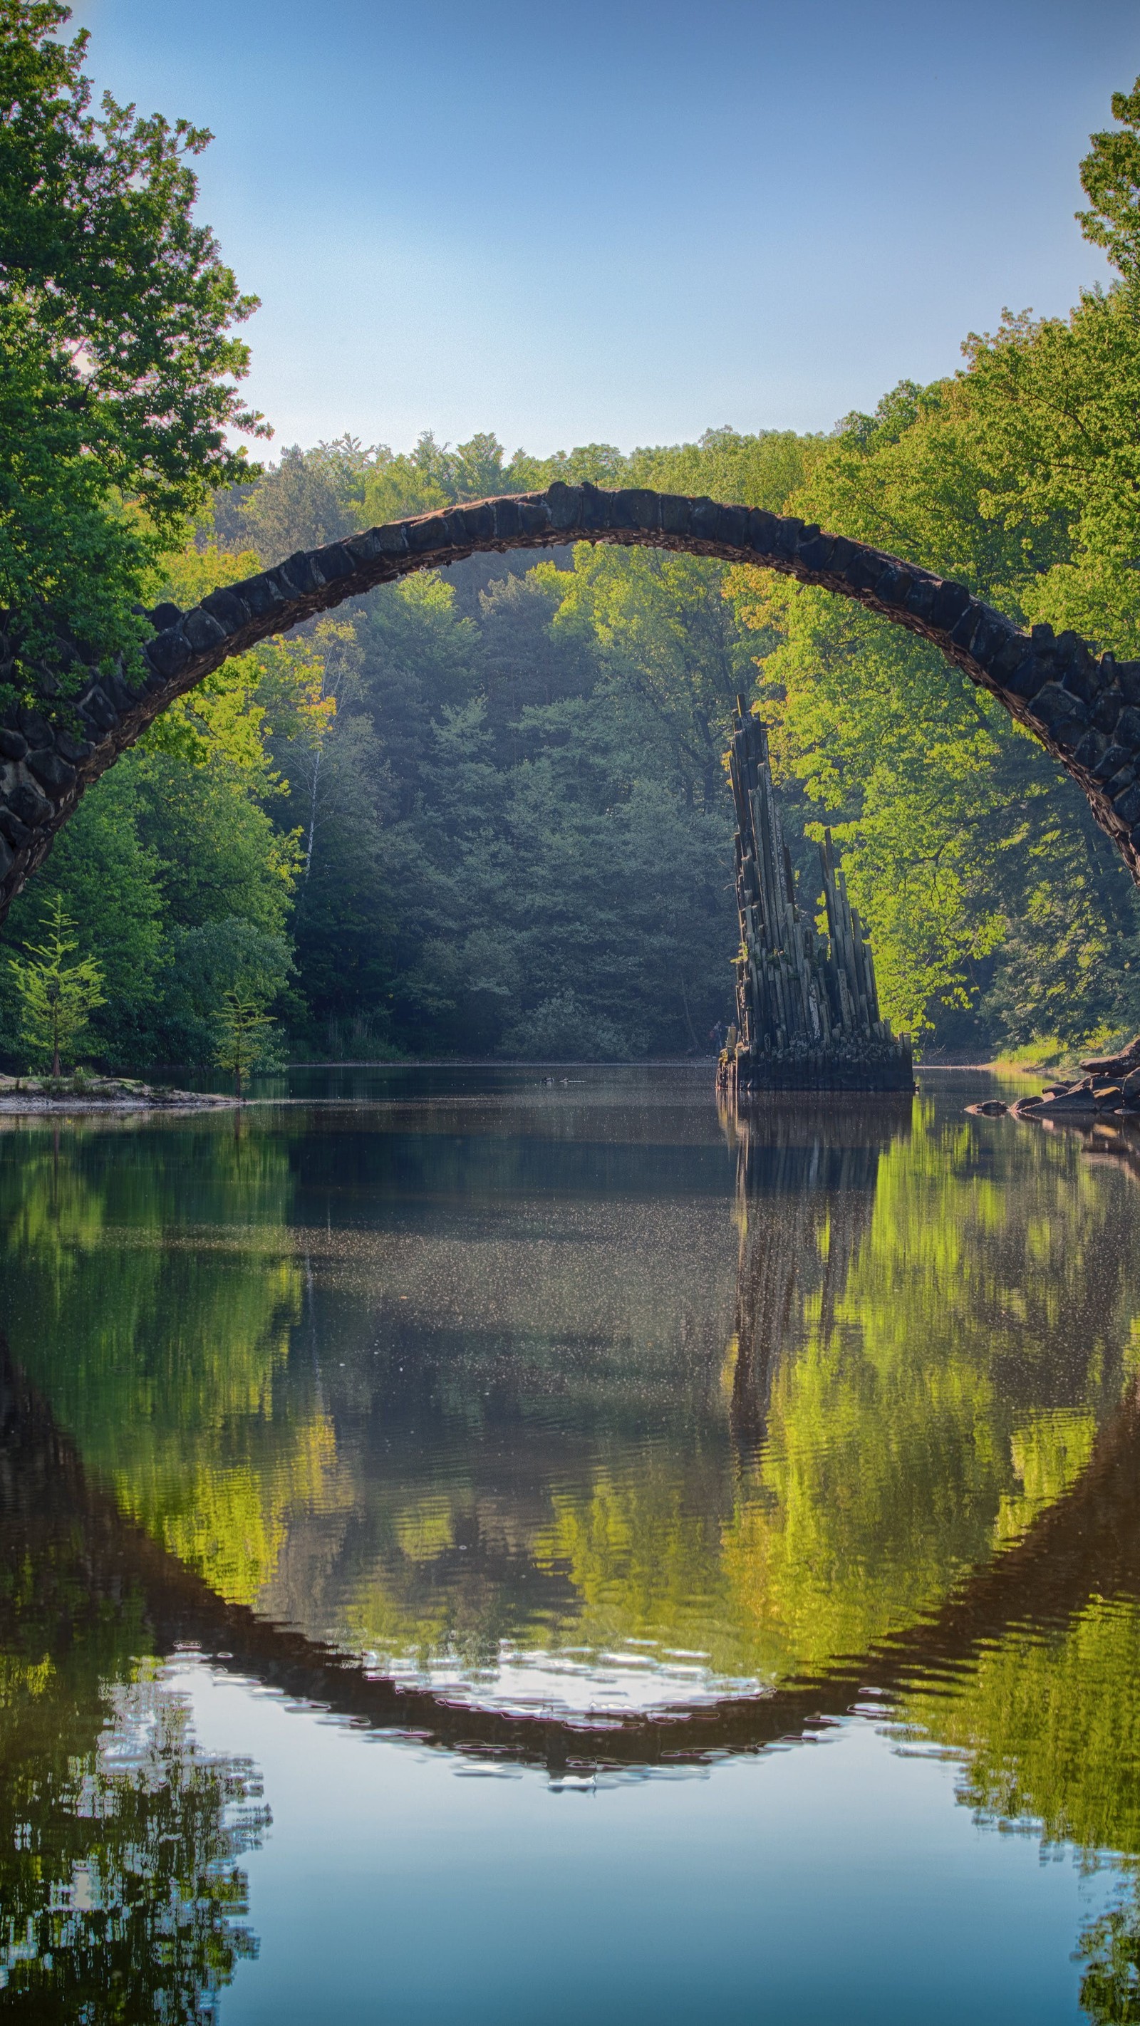
[[302,1309],[288,1149],[225,1126],[10,1135],[0,1230],[20,1363],[87,1467],[251,1599],[332,1430],[314,1402],[275,1412]]

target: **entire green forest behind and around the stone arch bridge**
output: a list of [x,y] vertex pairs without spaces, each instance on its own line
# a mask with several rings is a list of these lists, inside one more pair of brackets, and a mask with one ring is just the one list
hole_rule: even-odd
[[[235,391],[247,353],[231,326],[253,304],[190,225],[188,156],[209,136],[109,101],[95,120],[83,36],[49,49],[43,28],[63,10],[10,12],[26,32],[8,36],[0,91],[30,103],[43,73],[45,132],[99,156],[117,209],[61,241],[51,274],[26,247],[18,286],[4,269],[8,608],[55,604],[130,650],[140,596],[186,606],[354,527],[567,476],[792,511],[1025,624],[1140,652],[1140,83],[1081,164],[1081,229],[1112,286],[1067,318],[1006,312],[968,336],[950,379],[901,383],[828,436],[717,427],[672,448],[508,458],[492,434],[452,448],[425,432],[411,454],[346,434],[259,468],[229,448],[233,430],[263,434]],[[8,199],[8,247],[34,241],[47,203],[26,168],[43,136],[22,146],[26,160],[0,160],[28,207],[20,221]],[[61,142],[53,162],[65,156]],[[132,257],[182,276],[142,308],[83,265],[99,233],[128,231],[138,188],[160,203],[130,225]],[[178,316],[196,355],[168,342]],[[115,318],[134,363],[107,334]],[[174,357],[162,407],[154,361]],[[132,407],[132,371],[158,423]],[[85,1047],[109,1068],[209,1062],[227,991],[275,1013],[271,1045],[290,1056],[707,1054],[731,1005],[737,691],[771,727],[790,837],[830,823],[885,1011],[927,1056],[1140,1025],[1140,895],[1077,788],[998,705],[822,592],[587,545],[533,567],[472,557],[227,665],[87,794],[12,908],[4,954],[36,944],[59,895],[103,972]],[[796,853],[810,885],[808,847]],[[10,1068],[22,1045],[0,962]]]

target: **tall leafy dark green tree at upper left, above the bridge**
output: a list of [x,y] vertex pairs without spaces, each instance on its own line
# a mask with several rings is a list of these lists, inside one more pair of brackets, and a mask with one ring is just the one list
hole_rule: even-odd
[[24,689],[45,658],[67,687],[61,630],[136,648],[160,551],[245,470],[227,432],[265,434],[231,334],[257,298],[192,217],[211,134],[109,93],[93,113],[69,16],[0,0],[0,606]]

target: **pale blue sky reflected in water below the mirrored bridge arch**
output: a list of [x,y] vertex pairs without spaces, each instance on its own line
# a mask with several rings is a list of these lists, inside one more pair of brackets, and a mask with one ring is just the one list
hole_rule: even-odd
[[547,1781],[180,1676],[251,1752],[273,1829],[227,2026],[1069,2026],[1112,1872],[1041,1864],[954,1803],[958,1767],[854,1718],[699,1773]]

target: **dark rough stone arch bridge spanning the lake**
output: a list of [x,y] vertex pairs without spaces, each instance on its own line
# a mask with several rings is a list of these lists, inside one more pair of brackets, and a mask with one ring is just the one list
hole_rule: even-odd
[[[921,634],[998,697],[1081,786],[1140,885],[1140,660],[1100,658],[1075,634],[1019,632],[1012,620],[938,577],[844,535],[755,506],[642,488],[553,484],[393,521],[211,592],[192,612],[158,606],[144,669],[71,671],[67,705],[0,719],[0,920],[85,788],[180,695],[231,654],[288,632],[346,598],[480,551],[612,541],[755,563],[854,598]],[[12,640],[0,634],[0,681]],[[75,677],[79,687],[75,687]]]

